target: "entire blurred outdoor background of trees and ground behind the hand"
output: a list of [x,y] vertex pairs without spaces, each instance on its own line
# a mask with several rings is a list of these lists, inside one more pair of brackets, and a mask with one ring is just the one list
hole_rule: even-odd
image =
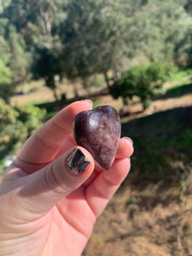
[[135,153],[83,255],[192,255],[192,1],[0,0],[0,179],[85,98],[119,111]]

